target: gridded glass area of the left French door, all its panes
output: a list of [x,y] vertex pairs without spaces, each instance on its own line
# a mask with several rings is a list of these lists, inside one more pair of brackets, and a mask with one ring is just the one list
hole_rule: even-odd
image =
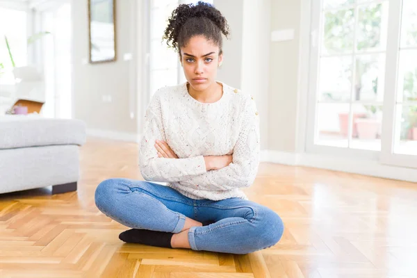
[[388,4],[324,2],[316,100],[319,145],[381,149]]

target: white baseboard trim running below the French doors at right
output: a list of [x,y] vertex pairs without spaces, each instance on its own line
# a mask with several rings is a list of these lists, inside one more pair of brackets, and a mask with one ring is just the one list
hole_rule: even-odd
[[322,154],[296,154],[291,152],[263,150],[261,151],[261,162],[315,167],[352,174],[363,174],[370,177],[417,183],[416,169],[383,165],[378,161],[353,160],[335,156],[325,156]]

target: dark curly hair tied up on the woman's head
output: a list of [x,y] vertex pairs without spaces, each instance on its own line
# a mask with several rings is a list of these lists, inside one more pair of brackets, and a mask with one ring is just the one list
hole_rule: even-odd
[[227,38],[229,25],[219,10],[209,3],[199,1],[196,5],[181,4],[172,11],[168,19],[163,39],[168,47],[173,47],[181,55],[180,48],[185,47],[190,38],[203,35],[218,45],[222,54],[222,34]]

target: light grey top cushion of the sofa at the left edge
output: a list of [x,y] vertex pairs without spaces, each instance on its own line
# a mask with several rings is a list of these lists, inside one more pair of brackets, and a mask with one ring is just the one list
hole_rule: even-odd
[[0,149],[83,145],[85,140],[85,124],[81,120],[31,115],[0,116]]

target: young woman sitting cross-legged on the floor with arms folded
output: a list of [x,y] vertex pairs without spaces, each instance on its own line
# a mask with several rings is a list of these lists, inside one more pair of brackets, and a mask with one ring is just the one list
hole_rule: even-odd
[[108,179],[95,193],[100,211],[133,228],[119,236],[126,243],[247,254],[282,236],[277,213],[240,190],[259,167],[259,116],[250,95],[216,81],[222,34],[227,21],[208,3],[172,12],[164,38],[187,82],[161,88],[147,108],[139,153],[146,181]]

